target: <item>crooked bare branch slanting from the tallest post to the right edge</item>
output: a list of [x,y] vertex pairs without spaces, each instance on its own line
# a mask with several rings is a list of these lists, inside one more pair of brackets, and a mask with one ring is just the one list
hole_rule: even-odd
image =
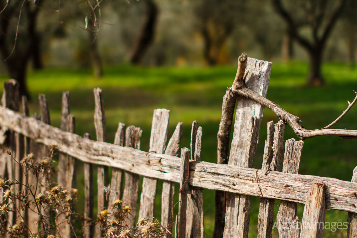
[[288,123],[293,129],[293,131],[295,132],[295,134],[298,137],[300,137],[302,140],[315,136],[340,136],[342,138],[357,138],[357,130],[329,129],[329,128],[307,130],[306,128],[304,128],[299,124],[302,122],[300,118],[285,111],[275,102],[272,102],[269,99],[259,95],[258,93],[254,92],[253,90],[250,90],[246,86],[235,88],[233,92],[239,96],[249,98],[257,103],[260,103],[262,106],[269,108],[280,118],[280,120],[283,120],[285,123]]

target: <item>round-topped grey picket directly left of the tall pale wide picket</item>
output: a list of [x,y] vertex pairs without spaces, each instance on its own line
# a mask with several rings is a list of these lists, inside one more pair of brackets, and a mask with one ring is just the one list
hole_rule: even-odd
[[[140,127],[129,126],[126,128],[125,146],[140,150],[140,138],[142,130]],[[125,186],[123,193],[123,202],[131,207],[125,223],[129,227],[135,227],[135,217],[137,211],[137,199],[139,191],[139,175],[135,173],[125,172]]]

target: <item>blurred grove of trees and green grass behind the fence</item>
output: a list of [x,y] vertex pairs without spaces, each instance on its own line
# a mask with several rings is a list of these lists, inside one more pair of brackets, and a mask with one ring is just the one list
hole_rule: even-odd
[[[93,88],[101,87],[108,142],[123,122],[141,127],[141,149],[149,150],[153,110],[167,108],[169,137],[181,121],[181,147],[189,147],[191,123],[198,120],[202,160],[216,163],[222,97],[242,52],[273,62],[267,98],[299,116],[308,129],[335,120],[357,90],[355,0],[103,0],[99,6],[90,0],[11,0],[1,1],[0,11],[1,81],[20,82],[31,114],[39,112],[38,93],[45,93],[57,127],[62,91],[69,90],[76,133],[89,132],[94,140]],[[357,129],[356,114],[352,108],[334,128]],[[278,119],[265,110],[254,168],[261,168],[270,120]],[[297,139],[286,126],[289,138]],[[338,139],[307,139],[299,173],[350,180],[356,141]],[[81,169],[79,163],[79,191]],[[156,217],[160,203],[157,199]],[[204,204],[211,237],[214,191],[204,191]],[[250,237],[257,233],[258,204],[252,198]],[[81,212],[81,204],[76,206]],[[299,204],[300,218],[302,211]],[[327,211],[326,221],[345,222],[347,213]],[[325,237],[346,232],[327,229]]]

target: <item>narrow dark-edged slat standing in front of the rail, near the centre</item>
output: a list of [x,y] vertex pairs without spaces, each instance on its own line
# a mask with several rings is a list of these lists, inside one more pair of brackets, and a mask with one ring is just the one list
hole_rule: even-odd
[[[190,175],[190,150],[181,149],[181,166],[180,166],[180,191],[178,191],[178,238],[186,237],[186,209],[187,209],[187,189],[188,177]],[[188,237],[186,237],[188,238]]]

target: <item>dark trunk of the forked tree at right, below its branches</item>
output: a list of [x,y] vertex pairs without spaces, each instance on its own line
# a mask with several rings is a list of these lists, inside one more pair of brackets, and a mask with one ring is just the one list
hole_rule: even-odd
[[307,85],[323,85],[325,80],[321,74],[322,47],[317,46],[308,52],[310,57],[310,71],[307,78]]

